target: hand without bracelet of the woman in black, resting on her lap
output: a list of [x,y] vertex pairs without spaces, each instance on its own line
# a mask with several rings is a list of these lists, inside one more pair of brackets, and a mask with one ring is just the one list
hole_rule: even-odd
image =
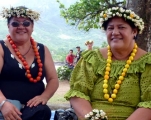
[[44,98],[43,96],[39,95],[39,96],[36,96],[33,99],[29,100],[27,102],[27,106],[33,107],[33,106],[37,106],[39,104],[45,105],[47,103],[47,101],[48,101],[47,98]]

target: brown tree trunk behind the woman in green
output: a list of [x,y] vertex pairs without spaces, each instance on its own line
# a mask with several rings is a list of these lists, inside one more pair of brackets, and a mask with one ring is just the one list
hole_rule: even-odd
[[145,28],[136,42],[142,49],[151,52],[151,0],[127,0],[126,6],[143,18]]

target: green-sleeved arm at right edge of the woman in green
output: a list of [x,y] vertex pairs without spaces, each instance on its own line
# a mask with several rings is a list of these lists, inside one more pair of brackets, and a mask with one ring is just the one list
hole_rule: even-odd
[[145,71],[140,77],[141,101],[137,105],[138,109],[127,120],[151,120],[151,65],[150,59],[148,60],[149,64],[146,64]]

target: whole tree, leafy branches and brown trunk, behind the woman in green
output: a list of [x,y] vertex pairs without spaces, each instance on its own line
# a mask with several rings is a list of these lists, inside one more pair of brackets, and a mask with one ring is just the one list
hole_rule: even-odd
[[99,29],[99,15],[113,6],[123,6],[135,11],[145,22],[144,32],[137,37],[137,44],[146,51],[151,51],[151,0],[80,0],[65,8],[59,0],[61,16],[70,25],[89,31]]

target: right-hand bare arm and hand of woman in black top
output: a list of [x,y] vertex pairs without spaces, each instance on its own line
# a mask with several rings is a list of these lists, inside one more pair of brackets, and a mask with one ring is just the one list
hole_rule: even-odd
[[46,76],[45,76],[46,82],[47,82],[46,88],[41,95],[35,96],[34,98],[30,99],[27,102],[27,106],[29,106],[29,107],[37,106],[40,103],[42,103],[43,105],[46,104],[47,101],[56,92],[56,90],[59,86],[59,81],[58,81],[58,76],[56,73],[55,65],[52,60],[52,56],[46,46],[45,46],[44,68],[45,68],[45,72],[46,72]]

